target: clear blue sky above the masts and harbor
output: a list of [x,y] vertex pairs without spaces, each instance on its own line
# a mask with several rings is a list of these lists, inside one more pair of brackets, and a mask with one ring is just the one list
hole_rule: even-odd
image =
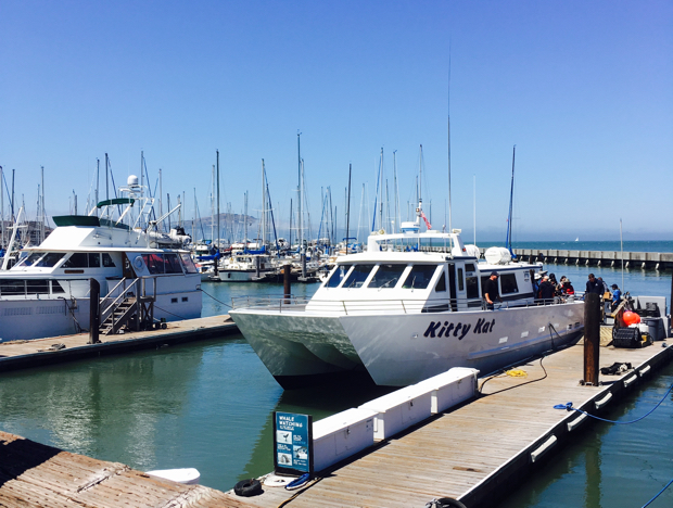
[[350,166],[369,228],[382,150],[391,214],[420,168],[433,229],[501,241],[516,145],[515,241],[619,239],[620,218],[666,240],[672,55],[668,0],[0,0],[0,166],[29,217],[42,166],[47,213],[81,214],[97,160],[104,195],[105,153],[119,187],[142,152],[191,219],[216,151],[220,209],[247,191],[257,216],[264,160],[282,228],[301,132],[314,231],[328,188],[343,228]]

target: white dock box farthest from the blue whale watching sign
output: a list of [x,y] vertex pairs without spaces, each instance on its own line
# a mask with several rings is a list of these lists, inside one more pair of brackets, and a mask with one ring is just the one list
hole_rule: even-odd
[[421,381],[417,386],[431,390],[431,412],[445,411],[474,396],[479,370],[466,367],[454,367],[446,372]]

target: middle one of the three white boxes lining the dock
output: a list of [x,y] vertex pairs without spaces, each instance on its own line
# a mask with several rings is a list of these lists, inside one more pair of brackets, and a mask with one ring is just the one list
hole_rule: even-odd
[[373,437],[385,440],[430,418],[431,386],[412,384],[361,405],[374,411]]

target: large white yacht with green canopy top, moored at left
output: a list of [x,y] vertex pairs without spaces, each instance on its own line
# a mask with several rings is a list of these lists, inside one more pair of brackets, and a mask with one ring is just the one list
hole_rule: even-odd
[[[140,227],[152,200],[137,177],[128,187],[122,189],[128,198],[102,201],[89,215],[53,217],[54,231],[0,272],[2,341],[87,330],[90,279],[100,284],[101,322],[124,304],[132,312],[140,301],[152,303],[153,322],[201,317],[201,277],[189,251],[157,247],[151,224]],[[124,220],[132,221],[134,205],[138,219],[129,226]],[[111,218],[123,207],[119,218]]]

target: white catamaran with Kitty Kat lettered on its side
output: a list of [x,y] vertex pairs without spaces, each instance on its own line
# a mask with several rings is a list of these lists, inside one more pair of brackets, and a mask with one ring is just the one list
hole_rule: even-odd
[[[535,299],[542,264],[479,262],[460,230],[420,232],[421,214],[419,205],[401,233],[371,234],[365,252],[338,256],[308,301],[233,299],[230,315],[283,388],[354,372],[390,386],[453,367],[487,374],[580,339],[582,302]],[[493,271],[503,303],[488,309]]]

